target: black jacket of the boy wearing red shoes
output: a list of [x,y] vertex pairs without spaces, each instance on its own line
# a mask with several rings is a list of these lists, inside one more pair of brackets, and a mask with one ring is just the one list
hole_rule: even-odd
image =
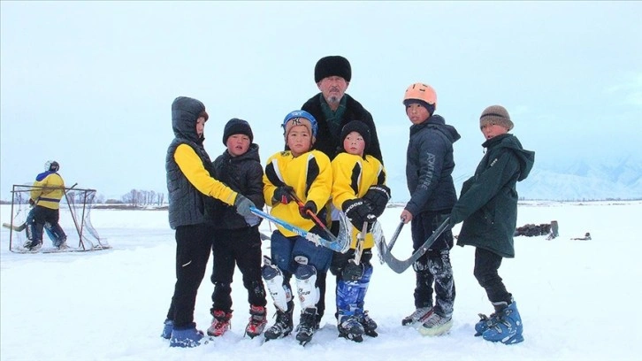
[[[249,150],[238,157],[232,157],[225,150],[212,163],[214,178],[227,187],[239,192],[252,201],[256,208],[263,209],[263,165],[258,155],[258,145],[250,144]],[[206,219],[216,229],[238,229],[248,227],[246,219],[236,209],[218,199],[209,198],[206,202]],[[256,221],[260,219],[256,218]],[[254,226],[254,225],[252,225]]]

